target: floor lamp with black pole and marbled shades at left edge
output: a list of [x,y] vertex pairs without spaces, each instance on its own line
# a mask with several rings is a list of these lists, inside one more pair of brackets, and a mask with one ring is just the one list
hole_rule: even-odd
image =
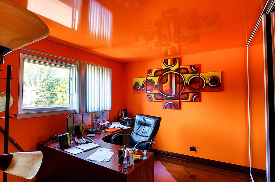
[[[0,0],[0,66],[4,56],[26,45],[46,38],[49,28],[35,14],[9,1]],[[32,179],[42,163],[42,152],[15,152],[8,154],[10,81],[12,66],[7,67],[5,96],[5,136],[4,154],[0,155],[0,170],[3,182],[7,173]]]

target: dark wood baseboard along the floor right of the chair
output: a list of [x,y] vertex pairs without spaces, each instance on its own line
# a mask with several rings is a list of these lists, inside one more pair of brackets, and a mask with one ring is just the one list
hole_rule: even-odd
[[[177,153],[157,150],[157,149],[153,149],[153,148],[151,151],[154,152],[155,155],[161,155],[161,156],[165,156],[165,157],[179,159],[179,160],[186,161],[186,162],[193,162],[196,164],[216,167],[219,169],[225,169],[225,170],[234,171],[234,172],[238,172],[238,173],[244,173],[244,174],[249,175],[249,167],[247,167],[247,166],[240,166],[240,165],[236,165],[236,164],[230,164],[227,162],[220,162],[220,161],[214,161],[214,160],[205,159],[205,158],[193,157],[193,156],[189,156],[189,155],[177,154]],[[266,170],[252,168],[251,173],[253,174],[253,176],[266,178]]]

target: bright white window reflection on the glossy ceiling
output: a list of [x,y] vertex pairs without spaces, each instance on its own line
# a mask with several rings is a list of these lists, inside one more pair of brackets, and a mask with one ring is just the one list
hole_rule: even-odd
[[28,10],[77,30],[81,0],[28,0]]

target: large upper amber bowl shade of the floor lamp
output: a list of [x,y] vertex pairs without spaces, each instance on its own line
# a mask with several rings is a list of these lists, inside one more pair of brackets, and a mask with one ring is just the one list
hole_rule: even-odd
[[49,35],[47,25],[27,9],[9,0],[0,0],[0,9],[1,63],[4,62],[4,56],[11,51]]

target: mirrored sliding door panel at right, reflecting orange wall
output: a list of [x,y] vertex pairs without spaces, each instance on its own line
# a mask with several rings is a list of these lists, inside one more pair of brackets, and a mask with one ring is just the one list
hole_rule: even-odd
[[251,175],[266,171],[266,82],[265,52],[262,23],[256,31],[248,50],[248,96],[250,123]]

